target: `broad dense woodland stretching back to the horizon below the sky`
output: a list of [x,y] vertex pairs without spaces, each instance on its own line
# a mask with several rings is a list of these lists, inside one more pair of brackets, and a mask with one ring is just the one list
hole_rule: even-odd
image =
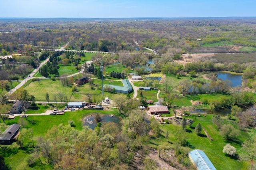
[[[56,49],[117,52],[137,46],[161,54],[236,53],[230,45],[256,47],[254,18],[2,19],[0,52]],[[138,44],[137,44],[138,43]],[[208,46],[208,44],[220,43]]]

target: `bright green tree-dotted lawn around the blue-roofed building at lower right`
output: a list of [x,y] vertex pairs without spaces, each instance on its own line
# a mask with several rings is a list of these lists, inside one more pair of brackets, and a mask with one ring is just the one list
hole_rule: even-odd
[[[185,117],[185,118],[188,118],[188,117]],[[226,145],[226,143],[230,143],[230,145],[234,146],[237,149],[239,154],[241,149],[241,141],[245,141],[249,137],[249,134],[241,131],[240,135],[238,136],[238,140],[224,141],[220,136],[219,131],[216,129],[215,125],[213,125],[212,123],[212,115],[206,115],[206,117],[192,117],[192,119],[194,119],[194,124],[192,125],[192,127],[191,128],[188,126],[186,127],[187,131],[185,132],[185,135],[188,137],[187,139],[188,143],[186,147],[189,150],[194,150],[194,149],[204,150],[204,152],[206,153],[208,158],[211,160],[211,162],[214,164],[217,170],[242,169],[242,161],[238,161],[237,159],[226,156],[222,152],[222,150],[223,150],[223,147]],[[227,120],[225,120],[224,122],[228,123]],[[200,135],[196,135],[196,133],[194,132],[194,127],[196,127],[198,123],[200,123],[206,129],[206,131],[213,138],[213,141],[210,141],[210,139],[206,137],[204,131],[202,131]],[[237,126],[236,124],[234,124],[234,122],[231,122],[231,123],[235,127]],[[161,125],[161,129],[163,130],[163,133],[160,139],[151,139],[150,143],[153,143],[154,145],[158,145],[158,146],[174,146],[174,143],[175,143],[174,131],[176,131],[178,126],[180,125],[176,125],[176,123]],[[169,134],[170,134],[168,142],[164,138],[167,131],[169,131]]]

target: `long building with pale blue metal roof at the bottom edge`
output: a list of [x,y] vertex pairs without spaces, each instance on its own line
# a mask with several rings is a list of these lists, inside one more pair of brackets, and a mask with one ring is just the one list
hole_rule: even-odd
[[188,156],[198,170],[217,170],[202,150],[192,150]]

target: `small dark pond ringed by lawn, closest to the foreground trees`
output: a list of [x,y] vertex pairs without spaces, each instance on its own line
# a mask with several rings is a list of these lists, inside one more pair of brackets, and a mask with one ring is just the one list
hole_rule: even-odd
[[[109,121],[117,123],[119,126],[121,126],[120,125],[121,118],[116,117],[116,116],[110,117],[110,115],[100,115],[101,123],[109,122]],[[83,122],[84,126],[89,126],[91,129],[94,130],[94,128],[97,126],[97,124],[98,123],[94,120],[94,115],[86,116],[84,118],[84,122]]]

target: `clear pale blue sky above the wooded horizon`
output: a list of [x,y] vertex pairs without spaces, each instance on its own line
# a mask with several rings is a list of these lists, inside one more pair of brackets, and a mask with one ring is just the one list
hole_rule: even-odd
[[1,0],[0,18],[256,16],[256,0]]

